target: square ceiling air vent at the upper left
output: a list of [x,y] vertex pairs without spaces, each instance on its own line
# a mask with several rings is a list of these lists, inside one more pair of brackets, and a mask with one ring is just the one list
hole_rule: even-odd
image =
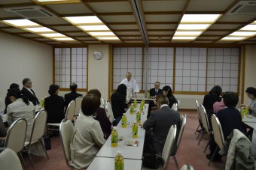
[[50,13],[49,11],[38,6],[8,7],[5,8],[5,10],[8,12],[16,13],[20,16],[25,17],[26,19],[56,17],[53,13]]

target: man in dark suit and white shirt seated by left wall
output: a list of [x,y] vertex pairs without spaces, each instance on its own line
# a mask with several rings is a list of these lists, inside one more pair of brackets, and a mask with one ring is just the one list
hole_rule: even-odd
[[39,105],[38,97],[35,96],[35,92],[32,90],[32,82],[29,78],[23,79],[23,89],[21,90],[21,93],[24,97],[29,99],[34,106]]

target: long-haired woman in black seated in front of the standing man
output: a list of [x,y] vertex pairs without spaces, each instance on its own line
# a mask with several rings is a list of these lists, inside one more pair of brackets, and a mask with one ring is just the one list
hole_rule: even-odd
[[111,107],[114,115],[113,125],[117,125],[126,112],[126,85],[120,84],[114,94],[111,94]]

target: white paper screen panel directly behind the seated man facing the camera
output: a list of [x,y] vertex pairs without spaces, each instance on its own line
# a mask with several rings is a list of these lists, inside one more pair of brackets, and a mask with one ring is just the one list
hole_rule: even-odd
[[148,48],[148,89],[154,88],[154,82],[172,87],[173,48]]

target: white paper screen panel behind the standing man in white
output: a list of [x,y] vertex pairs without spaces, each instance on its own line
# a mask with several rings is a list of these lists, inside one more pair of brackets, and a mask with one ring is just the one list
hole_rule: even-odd
[[139,89],[142,90],[142,61],[143,52],[141,47],[126,48],[114,47],[113,55],[113,88],[117,89],[120,82],[125,79],[126,73],[132,73]]

